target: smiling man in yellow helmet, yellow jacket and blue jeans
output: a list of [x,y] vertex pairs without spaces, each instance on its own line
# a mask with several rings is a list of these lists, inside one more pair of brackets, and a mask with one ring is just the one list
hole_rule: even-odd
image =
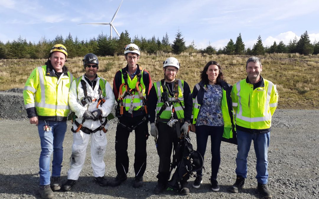
[[[42,198],[53,198],[60,190],[63,140],[69,113],[69,88],[73,75],[64,66],[68,51],[62,44],[52,47],[44,66],[35,68],[26,81],[23,98],[30,124],[38,126],[41,153],[39,158]],[[50,180],[50,160],[52,179]],[[53,190],[53,191],[52,191]]]

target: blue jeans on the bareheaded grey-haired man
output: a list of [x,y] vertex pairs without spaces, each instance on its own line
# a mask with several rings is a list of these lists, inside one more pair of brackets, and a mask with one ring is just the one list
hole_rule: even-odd
[[268,182],[268,147],[270,141],[270,131],[264,134],[251,134],[237,130],[237,158],[236,175],[247,178],[247,157],[250,150],[251,140],[254,141],[256,153],[256,179],[259,183]]

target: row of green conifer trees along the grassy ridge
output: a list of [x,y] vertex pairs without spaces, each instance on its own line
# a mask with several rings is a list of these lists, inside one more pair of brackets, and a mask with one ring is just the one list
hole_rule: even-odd
[[55,44],[63,44],[67,47],[68,56],[82,57],[87,53],[94,53],[98,56],[116,55],[123,53],[123,47],[129,43],[135,43],[141,48],[143,52],[154,54],[156,52],[175,53],[180,54],[182,52],[188,53],[206,53],[206,54],[227,54],[227,55],[263,55],[264,53],[300,53],[304,55],[318,54],[319,53],[319,41],[310,42],[308,32],[304,32],[300,39],[296,37],[290,40],[288,45],[285,45],[283,41],[278,44],[276,41],[271,45],[263,46],[261,36],[258,36],[257,42],[252,48],[245,48],[245,44],[242,41],[241,33],[239,33],[236,41],[233,39],[227,43],[223,48],[218,50],[209,45],[205,49],[197,49],[195,41],[193,40],[189,46],[185,45],[185,40],[182,37],[182,32],[178,30],[175,35],[173,43],[170,42],[167,33],[159,39],[155,37],[147,39],[146,37],[134,36],[130,38],[130,34],[127,30],[122,32],[120,37],[111,39],[107,34],[99,34],[97,38],[90,40],[79,40],[78,37],[73,39],[71,33],[66,38],[62,35],[57,35],[55,39],[50,40],[42,37],[38,43],[27,42],[22,36],[12,42],[8,41],[3,43],[0,40],[0,59],[42,59],[48,58],[48,52]]

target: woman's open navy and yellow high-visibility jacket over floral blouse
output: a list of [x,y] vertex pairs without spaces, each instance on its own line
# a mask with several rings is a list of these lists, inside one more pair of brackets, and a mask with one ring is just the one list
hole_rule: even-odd
[[[232,108],[232,99],[231,99],[232,86],[230,84],[227,84],[224,81],[221,81],[220,85],[223,91],[223,97],[221,100],[221,110],[222,110],[223,120],[224,120],[223,138],[236,139],[236,127],[235,127],[235,119],[234,119],[234,112]],[[192,124],[196,124],[200,107],[203,104],[205,87],[206,85],[204,85],[203,82],[199,82],[194,86],[194,89],[192,91],[192,98],[193,98]]]

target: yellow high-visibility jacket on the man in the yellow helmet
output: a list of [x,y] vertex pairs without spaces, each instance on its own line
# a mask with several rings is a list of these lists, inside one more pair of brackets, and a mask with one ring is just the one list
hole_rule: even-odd
[[57,120],[61,121],[70,110],[68,97],[74,78],[70,72],[58,79],[47,75],[46,71],[46,65],[37,67],[27,79],[23,90],[25,108],[35,107],[38,116],[57,116]]

